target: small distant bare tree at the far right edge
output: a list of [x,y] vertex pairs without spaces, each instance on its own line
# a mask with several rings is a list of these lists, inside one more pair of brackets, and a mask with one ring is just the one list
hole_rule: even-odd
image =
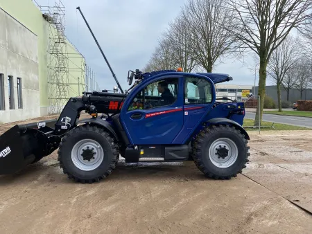
[[295,88],[300,91],[300,99],[302,99],[302,94],[303,94],[304,90],[309,89],[312,86],[311,60],[309,60],[305,56],[301,57],[300,60],[297,60],[297,64],[296,64],[295,68],[296,68]]

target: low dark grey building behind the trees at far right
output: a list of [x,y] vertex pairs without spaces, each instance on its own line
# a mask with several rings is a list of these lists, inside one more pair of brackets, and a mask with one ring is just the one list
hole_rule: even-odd
[[[258,93],[258,87],[256,87],[256,93]],[[266,95],[270,96],[277,103],[277,87],[276,86],[266,86]],[[312,99],[312,90],[305,90],[302,93],[302,100],[311,100]],[[281,87],[281,100],[287,100],[287,92]],[[289,92],[289,102],[294,103],[300,100],[300,91],[297,89],[291,89]]]

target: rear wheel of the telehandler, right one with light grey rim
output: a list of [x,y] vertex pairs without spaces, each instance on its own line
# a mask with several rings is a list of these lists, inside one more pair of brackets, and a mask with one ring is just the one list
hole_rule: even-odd
[[[220,150],[222,148],[225,150]],[[249,148],[248,141],[239,129],[212,125],[196,137],[193,160],[206,177],[231,179],[246,168]]]

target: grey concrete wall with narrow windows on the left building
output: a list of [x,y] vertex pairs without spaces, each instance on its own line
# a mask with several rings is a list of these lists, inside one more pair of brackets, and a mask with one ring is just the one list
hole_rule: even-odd
[[[37,35],[1,8],[0,30],[0,73],[3,74],[5,98],[0,123],[40,116]],[[9,109],[8,75],[13,78],[14,109]],[[21,109],[18,107],[17,78],[21,78]]]

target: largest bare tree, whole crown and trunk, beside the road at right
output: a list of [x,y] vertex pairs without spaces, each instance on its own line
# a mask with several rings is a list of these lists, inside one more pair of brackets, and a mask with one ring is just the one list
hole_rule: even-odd
[[312,0],[225,1],[236,12],[235,24],[229,30],[259,56],[258,95],[261,97],[259,114],[262,120],[268,61],[293,28],[309,24]]

